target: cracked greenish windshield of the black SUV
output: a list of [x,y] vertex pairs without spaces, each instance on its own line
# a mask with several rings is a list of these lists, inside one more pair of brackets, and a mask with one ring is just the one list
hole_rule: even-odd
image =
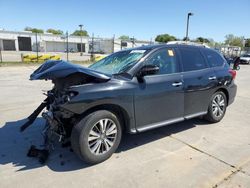
[[89,68],[105,74],[123,73],[135,65],[146,53],[147,50],[120,51],[97,61]]

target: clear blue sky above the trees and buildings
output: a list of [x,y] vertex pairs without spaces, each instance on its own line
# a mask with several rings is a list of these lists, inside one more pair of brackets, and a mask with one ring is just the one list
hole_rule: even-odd
[[168,33],[182,39],[188,12],[189,38],[225,35],[250,38],[250,0],[0,0],[0,28],[22,31],[26,26],[72,33],[79,24],[90,35],[129,35],[154,40]]

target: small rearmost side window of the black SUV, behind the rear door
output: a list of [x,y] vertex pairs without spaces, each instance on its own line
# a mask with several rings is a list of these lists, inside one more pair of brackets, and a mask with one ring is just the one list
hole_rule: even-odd
[[225,60],[217,52],[206,49],[204,53],[211,67],[219,67],[224,64]]

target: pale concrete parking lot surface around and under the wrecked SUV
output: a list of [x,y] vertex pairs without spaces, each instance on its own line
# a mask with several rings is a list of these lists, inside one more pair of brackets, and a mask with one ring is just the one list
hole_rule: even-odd
[[[26,157],[42,143],[39,117],[49,81],[29,81],[36,67],[0,67],[0,187],[250,187],[250,66],[237,72],[238,92],[220,123],[188,120],[124,135],[107,161],[89,166],[58,145],[46,165]],[[153,110],[152,110],[153,112]]]

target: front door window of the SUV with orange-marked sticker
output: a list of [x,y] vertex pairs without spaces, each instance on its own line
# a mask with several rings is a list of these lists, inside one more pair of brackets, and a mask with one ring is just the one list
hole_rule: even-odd
[[157,65],[160,69],[158,74],[171,74],[179,70],[175,51],[170,48],[156,51],[146,60],[146,64]]

